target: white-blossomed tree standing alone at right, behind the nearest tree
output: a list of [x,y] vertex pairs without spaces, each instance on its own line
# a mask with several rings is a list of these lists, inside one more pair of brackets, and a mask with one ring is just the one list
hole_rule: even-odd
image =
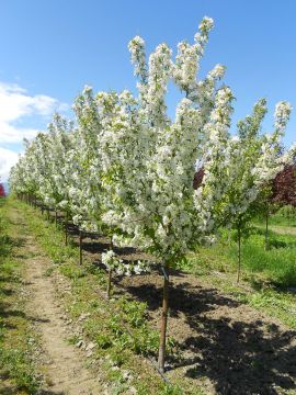
[[[289,119],[291,105],[280,102],[275,109],[274,132],[260,134],[266,114],[261,99],[251,115],[238,123],[238,136],[229,140],[228,192],[220,202],[224,225],[236,229],[238,241],[238,276],[241,268],[241,237],[250,230],[250,221],[262,210],[270,194],[269,184],[283,168],[289,155],[282,155],[282,137]],[[264,206],[264,205],[263,205]]]

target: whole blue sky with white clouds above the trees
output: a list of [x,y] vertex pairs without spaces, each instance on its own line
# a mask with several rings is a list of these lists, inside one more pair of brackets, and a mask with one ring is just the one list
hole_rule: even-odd
[[[127,43],[145,38],[150,53],[161,42],[173,49],[191,41],[204,15],[215,30],[201,76],[217,63],[235,97],[234,124],[266,98],[271,131],[274,105],[295,108],[286,145],[296,139],[295,0],[10,0],[0,2],[0,167],[2,178],[24,136],[45,129],[55,110],[71,114],[84,84],[95,91],[135,89]],[[168,101],[172,111],[174,89]],[[4,168],[4,170],[3,170]]]

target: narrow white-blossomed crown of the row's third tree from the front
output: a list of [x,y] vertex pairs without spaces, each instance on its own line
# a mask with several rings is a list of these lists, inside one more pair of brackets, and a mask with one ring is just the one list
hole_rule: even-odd
[[81,232],[98,232],[101,222],[101,120],[92,89],[86,87],[73,104],[77,128],[73,134],[72,177],[69,189],[72,221]]

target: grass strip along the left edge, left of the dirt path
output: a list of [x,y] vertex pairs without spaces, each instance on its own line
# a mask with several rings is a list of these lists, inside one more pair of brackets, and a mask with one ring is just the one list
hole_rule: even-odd
[[4,200],[0,201],[0,393],[5,388],[3,393],[35,394],[39,384],[31,358],[35,340],[32,342],[34,334],[20,296],[21,240],[13,233]]

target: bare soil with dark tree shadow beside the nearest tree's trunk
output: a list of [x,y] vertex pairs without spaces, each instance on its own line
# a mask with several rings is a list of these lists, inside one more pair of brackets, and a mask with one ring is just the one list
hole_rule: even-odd
[[[151,316],[159,316],[161,279],[139,276],[135,281],[138,284],[126,283],[122,293],[146,302]],[[182,368],[193,380],[207,377],[217,394],[296,391],[296,331],[283,330],[255,315],[215,289],[190,282],[174,284],[170,290],[169,326],[181,352],[168,359],[167,370]]]

